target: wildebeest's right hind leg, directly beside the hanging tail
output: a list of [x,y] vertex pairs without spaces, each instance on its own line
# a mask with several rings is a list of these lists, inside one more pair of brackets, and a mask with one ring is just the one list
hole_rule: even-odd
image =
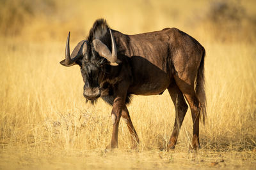
[[179,86],[179,89],[184,94],[188,104],[190,106],[192,120],[193,120],[193,138],[190,148],[197,149],[200,148],[199,143],[199,119],[200,119],[200,102],[196,97],[196,92],[194,90],[193,83],[186,83],[186,81],[180,80],[175,77],[175,81]]

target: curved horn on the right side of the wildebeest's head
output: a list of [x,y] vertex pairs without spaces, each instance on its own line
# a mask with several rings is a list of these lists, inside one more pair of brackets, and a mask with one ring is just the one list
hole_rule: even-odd
[[110,36],[111,36],[111,45],[112,45],[112,52],[109,51],[108,46],[106,46],[102,41],[99,39],[93,39],[92,43],[96,52],[99,53],[100,56],[106,58],[111,65],[117,66],[117,52],[116,52],[116,43],[115,39],[112,35],[111,29],[109,29]]

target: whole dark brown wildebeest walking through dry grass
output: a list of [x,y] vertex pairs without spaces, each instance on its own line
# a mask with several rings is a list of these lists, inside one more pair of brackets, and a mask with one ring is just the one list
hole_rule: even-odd
[[[110,29],[106,20],[93,24],[87,39],[80,41],[71,56],[68,34],[66,57],[60,64],[81,68],[86,101],[102,97],[113,106],[113,134],[107,148],[118,147],[118,124],[124,118],[133,145],[139,143],[127,104],[131,95],[163,94],[168,89],[175,105],[175,124],[168,143],[174,148],[188,110],[193,118],[191,148],[199,148],[199,119],[206,116],[204,89],[205,50],[198,41],[176,28],[136,35]],[[185,101],[185,98],[186,101]]]

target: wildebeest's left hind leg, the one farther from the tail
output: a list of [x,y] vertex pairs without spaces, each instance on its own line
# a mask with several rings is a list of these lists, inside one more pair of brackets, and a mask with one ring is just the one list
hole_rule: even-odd
[[173,126],[172,136],[167,146],[167,150],[175,148],[177,138],[179,136],[180,127],[188,111],[188,105],[184,99],[182,92],[180,91],[179,87],[173,83],[168,87],[168,92],[172,98],[173,104],[175,106],[175,122]]

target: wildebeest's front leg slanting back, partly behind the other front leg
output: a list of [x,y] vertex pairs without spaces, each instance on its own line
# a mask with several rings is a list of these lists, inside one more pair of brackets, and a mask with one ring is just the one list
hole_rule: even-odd
[[137,132],[135,131],[134,126],[132,125],[132,120],[129,115],[129,111],[126,106],[124,106],[122,110],[122,118],[124,119],[125,123],[127,124],[127,127],[129,129],[129,132],[131,134],[132,138],[132,148],[136,148],[138,143],[140,142]]

